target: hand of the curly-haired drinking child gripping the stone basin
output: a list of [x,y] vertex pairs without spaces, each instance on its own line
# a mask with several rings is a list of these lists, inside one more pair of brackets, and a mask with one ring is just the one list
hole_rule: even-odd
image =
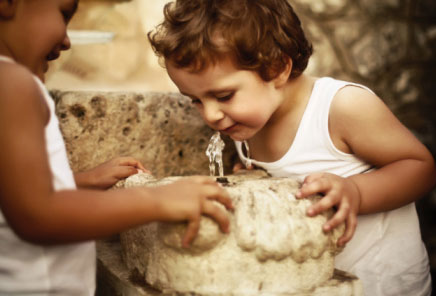
[[357,226],[357,214],[360,207],[360,192],[350,178],[342,178],[329,173],[317,173],[305,178],[297,198],[322,194],[323,198],[307,210],[309,216],[315,216],[332,207],[336,213],[327,221],[324,231],[330,231],[345,222],[345,232],[338,239],[338,246],[344,246],[353,237]]

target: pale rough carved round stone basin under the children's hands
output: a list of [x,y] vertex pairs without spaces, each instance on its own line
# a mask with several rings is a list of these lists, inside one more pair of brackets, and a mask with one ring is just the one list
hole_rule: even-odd
[[[153,180],[149,175],[137,174],[127,178],[124,187],[157,186],[179,178]],[[184,223],[155,222],[137,227],[121,234],[129,270],[143,275],[148,284],[164,292],[362,294],[356,279],[332,286],[334,256],[340,251],[336,241],[344,227],[326,234],[322,225],[331,212],[306,215],[307,207],[319,197],[297,200],[294,194],[300,184],[289,178],[248,174],[230,175],[227,179],[223,186],[235,207],[229,213],[229,234],[222,233],[210,218],[202,217],[192,246],[182,248]]]

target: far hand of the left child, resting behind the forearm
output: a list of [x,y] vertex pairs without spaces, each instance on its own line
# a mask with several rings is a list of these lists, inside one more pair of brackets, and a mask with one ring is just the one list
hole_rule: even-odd
[[77,187],[107,189],[139,171],[150,173],[133,157],[116,157],[85,172],[75,173]]

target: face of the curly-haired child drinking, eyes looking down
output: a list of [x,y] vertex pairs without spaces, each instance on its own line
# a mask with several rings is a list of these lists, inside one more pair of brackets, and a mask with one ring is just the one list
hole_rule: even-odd
[[274,80],[265,82],[256,72],[237,69],[229,60],[200,73],[176,68],[168,61],[166,68],[204,121],[233,140],[248,140],[261,131],[281,103]]

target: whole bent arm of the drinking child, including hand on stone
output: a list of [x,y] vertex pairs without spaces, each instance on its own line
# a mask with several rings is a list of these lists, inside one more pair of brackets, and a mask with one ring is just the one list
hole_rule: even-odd
[[436,182],[431,153],[374,94],[345,87],[332,102],[331,139],[339,150],[353,153],[376,170],[348,178],[314,174],[299,197],[326,193],[309,209],[316,215],[339,205],[332,227],[350,213],[368,214],[399,208],[417,200]]

